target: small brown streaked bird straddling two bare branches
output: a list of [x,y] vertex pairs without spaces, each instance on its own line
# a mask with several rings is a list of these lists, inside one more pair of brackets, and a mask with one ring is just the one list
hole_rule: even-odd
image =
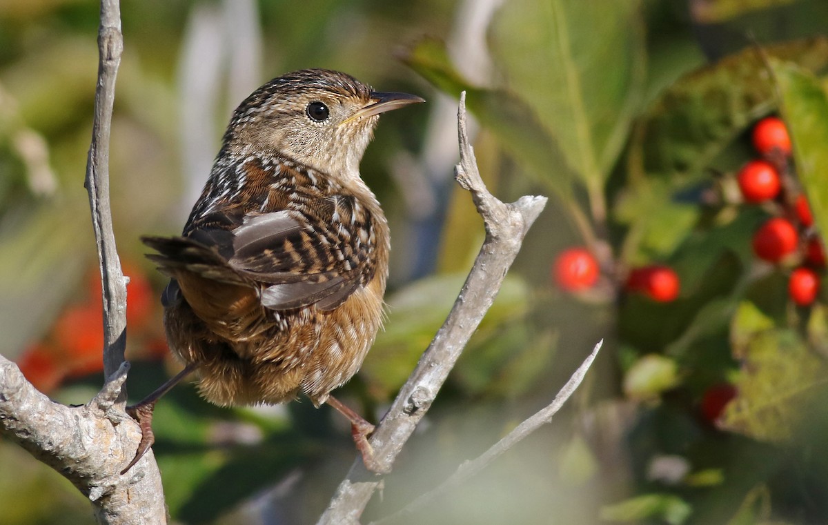
[[152,446],[155,402],[193,371],[220,406],[327,402],[378,470],[373,426],[330,392],[357,372],[383,318],[388,223],[359,161],[378,114],[418,102],[301,70],[236,108],[181,237],[142,238],[171,279],[164,325],[185,368],[130,407],[143,436],[124,472]]

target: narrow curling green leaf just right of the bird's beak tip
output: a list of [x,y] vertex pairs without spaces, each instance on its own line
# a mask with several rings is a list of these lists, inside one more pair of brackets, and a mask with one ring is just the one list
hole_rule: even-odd
[[451,65],[441,41],[421,40],[403,60],[446,94],[458,97],[465,91],[469,111],[522,168],[559,195],[570,195],[571,168],[531,107],[507,91],[469,84]]

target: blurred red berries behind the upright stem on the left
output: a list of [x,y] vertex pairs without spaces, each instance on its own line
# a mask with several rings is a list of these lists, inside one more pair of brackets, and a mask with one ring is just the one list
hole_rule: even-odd
[[[132,264],[126,263],[124,272],[130,277],[127,322],[141,335],[150,325],[155,293],[147,278]],[[66,306],[48,335],[30,344],[17,359],[23,375],[41,392],[53,390],[65,379],[103,371],[103,311],[97,271],[90,272],[83,296],[82,302]],[[156,339],[152,338],[154,344],[147,345],[148,348],[158,346]],[[166,354],[166,347],[159,351]]]

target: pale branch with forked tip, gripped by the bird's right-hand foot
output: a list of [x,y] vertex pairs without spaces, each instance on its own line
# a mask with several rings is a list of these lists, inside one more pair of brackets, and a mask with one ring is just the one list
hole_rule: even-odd
[[[471,193],[483,217],[486,238],[455,306],[373,433],[374,456],[388,470],[492,306],[527,230],[546,205],[546,197],[539,196],[523,196],[517,202],[504,204],[486,190],[466,132],[465,92],[460,95],[458,135],[460,164],[455,167],[455,179]],[[354,461],[317,523],[359,523],[359,516],[381,481],[365,470],[362,460]]]

